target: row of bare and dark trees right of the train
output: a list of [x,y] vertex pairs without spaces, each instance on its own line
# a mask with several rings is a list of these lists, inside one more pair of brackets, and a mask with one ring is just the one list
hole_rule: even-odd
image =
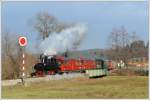
[[114,61],[122,60],[127,65],[131,58],[147,57],[148,45],[139,38],[136,32],[129,33],[124,26],[114,28],[108,36],[109,49],[106,55]]

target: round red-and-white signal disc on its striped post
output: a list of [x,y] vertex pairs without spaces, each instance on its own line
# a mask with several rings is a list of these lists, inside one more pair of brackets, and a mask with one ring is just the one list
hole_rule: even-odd
[[19,44],[23,49],[23,53],[22,53],[22,75],[21,75],[21,79],[22,79],[22,83],[25,84],[25,77],[26,77],[26,73],[25,73],[25,46],[27,45],[27,38],[24,36],[19,37]]

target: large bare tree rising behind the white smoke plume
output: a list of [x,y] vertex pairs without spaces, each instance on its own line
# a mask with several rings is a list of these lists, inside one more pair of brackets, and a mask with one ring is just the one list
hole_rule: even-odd
[[34,29],[40,33],[43,40],[51,33],[59,33],[69,26],[69,24],[67,25],[59,22],[53,15],[50,15],[47,12],[38,13],[32,21],[32,25]]

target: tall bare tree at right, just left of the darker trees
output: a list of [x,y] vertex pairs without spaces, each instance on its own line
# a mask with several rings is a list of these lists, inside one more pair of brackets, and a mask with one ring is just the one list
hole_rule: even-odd
[[129,34],[125,27],[113,29],[109,34],[108,40],[111,47],[109,55],[111,55],[112,59],[127,62],[129,50],[126,46],[129,44]]

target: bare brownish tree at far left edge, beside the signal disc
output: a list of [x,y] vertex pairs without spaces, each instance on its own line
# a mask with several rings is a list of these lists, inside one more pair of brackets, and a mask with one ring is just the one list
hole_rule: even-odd
[[2,39],[2,78],[18,78],[22,49],[14,34],[5,32]]

